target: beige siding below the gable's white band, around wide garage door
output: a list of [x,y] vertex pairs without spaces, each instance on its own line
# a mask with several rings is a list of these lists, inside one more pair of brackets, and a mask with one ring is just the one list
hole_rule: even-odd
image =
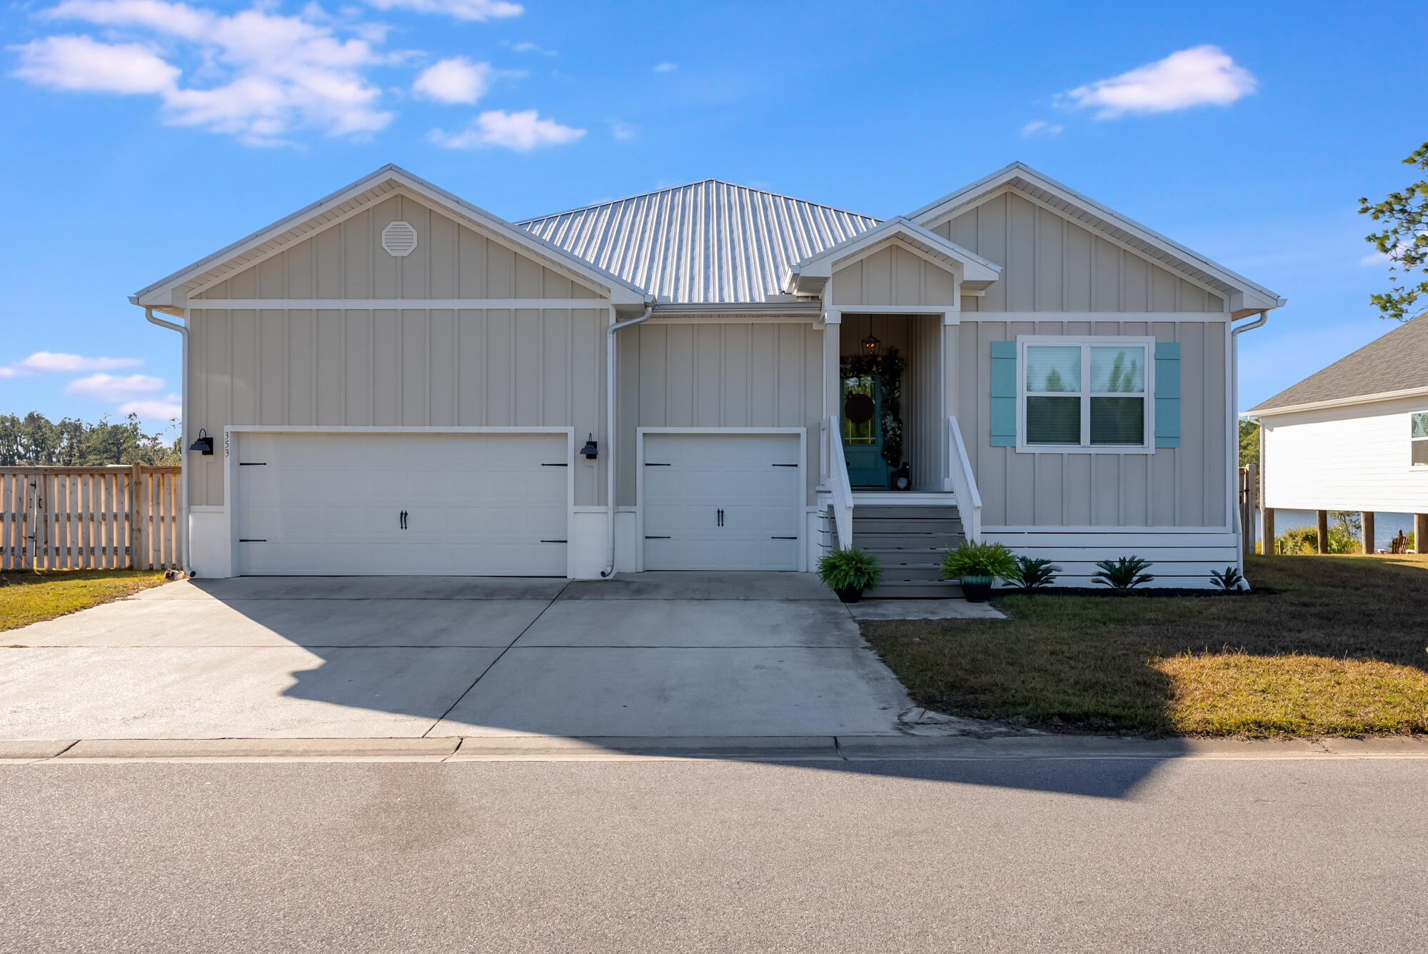
[[[190,311],[190,414],[227,424],[574,427],[604,431],[607,308]],[[191,501],[221,504],[221,456]],[[575,503],[603,467],[575,463]]]

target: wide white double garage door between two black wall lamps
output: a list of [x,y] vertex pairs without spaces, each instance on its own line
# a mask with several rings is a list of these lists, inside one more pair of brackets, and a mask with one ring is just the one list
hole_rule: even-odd
[[565,576],[565,434],[237,436],[237,571]]

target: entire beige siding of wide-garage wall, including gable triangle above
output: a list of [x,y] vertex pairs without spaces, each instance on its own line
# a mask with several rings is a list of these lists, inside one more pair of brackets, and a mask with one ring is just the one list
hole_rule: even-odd
[[[417,230],[387,254],[391,221]],[[340,308],[231,300],[351,300]],[[410,308],[361,307],[411,300]],[[583,307],[456,308],[424,300],[590,298]],[[393,196],[190,297],[190,414],[228,424],[604,427],[608,300],[408,196]],[[191,503],[223,504],[221,456],[194,457]],[[603,498],[575,464],[575,501]]]

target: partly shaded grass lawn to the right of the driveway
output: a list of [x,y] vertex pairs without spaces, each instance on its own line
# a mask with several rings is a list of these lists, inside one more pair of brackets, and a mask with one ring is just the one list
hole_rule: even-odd
[[928,708],[1058,731],[1428,733],[1428,557],[1251,557],[1238,597],[1002,596],[864,621]]

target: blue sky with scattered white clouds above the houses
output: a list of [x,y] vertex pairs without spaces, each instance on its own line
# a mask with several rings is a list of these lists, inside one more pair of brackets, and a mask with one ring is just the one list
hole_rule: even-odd
[[1405,3],[34,0],[3,11],[0,413],[176,404],[126,296],[398,163],[516,220],[718,177],[891,216],[1022,160],[1289,298],[1241,407],[1391,330]]

